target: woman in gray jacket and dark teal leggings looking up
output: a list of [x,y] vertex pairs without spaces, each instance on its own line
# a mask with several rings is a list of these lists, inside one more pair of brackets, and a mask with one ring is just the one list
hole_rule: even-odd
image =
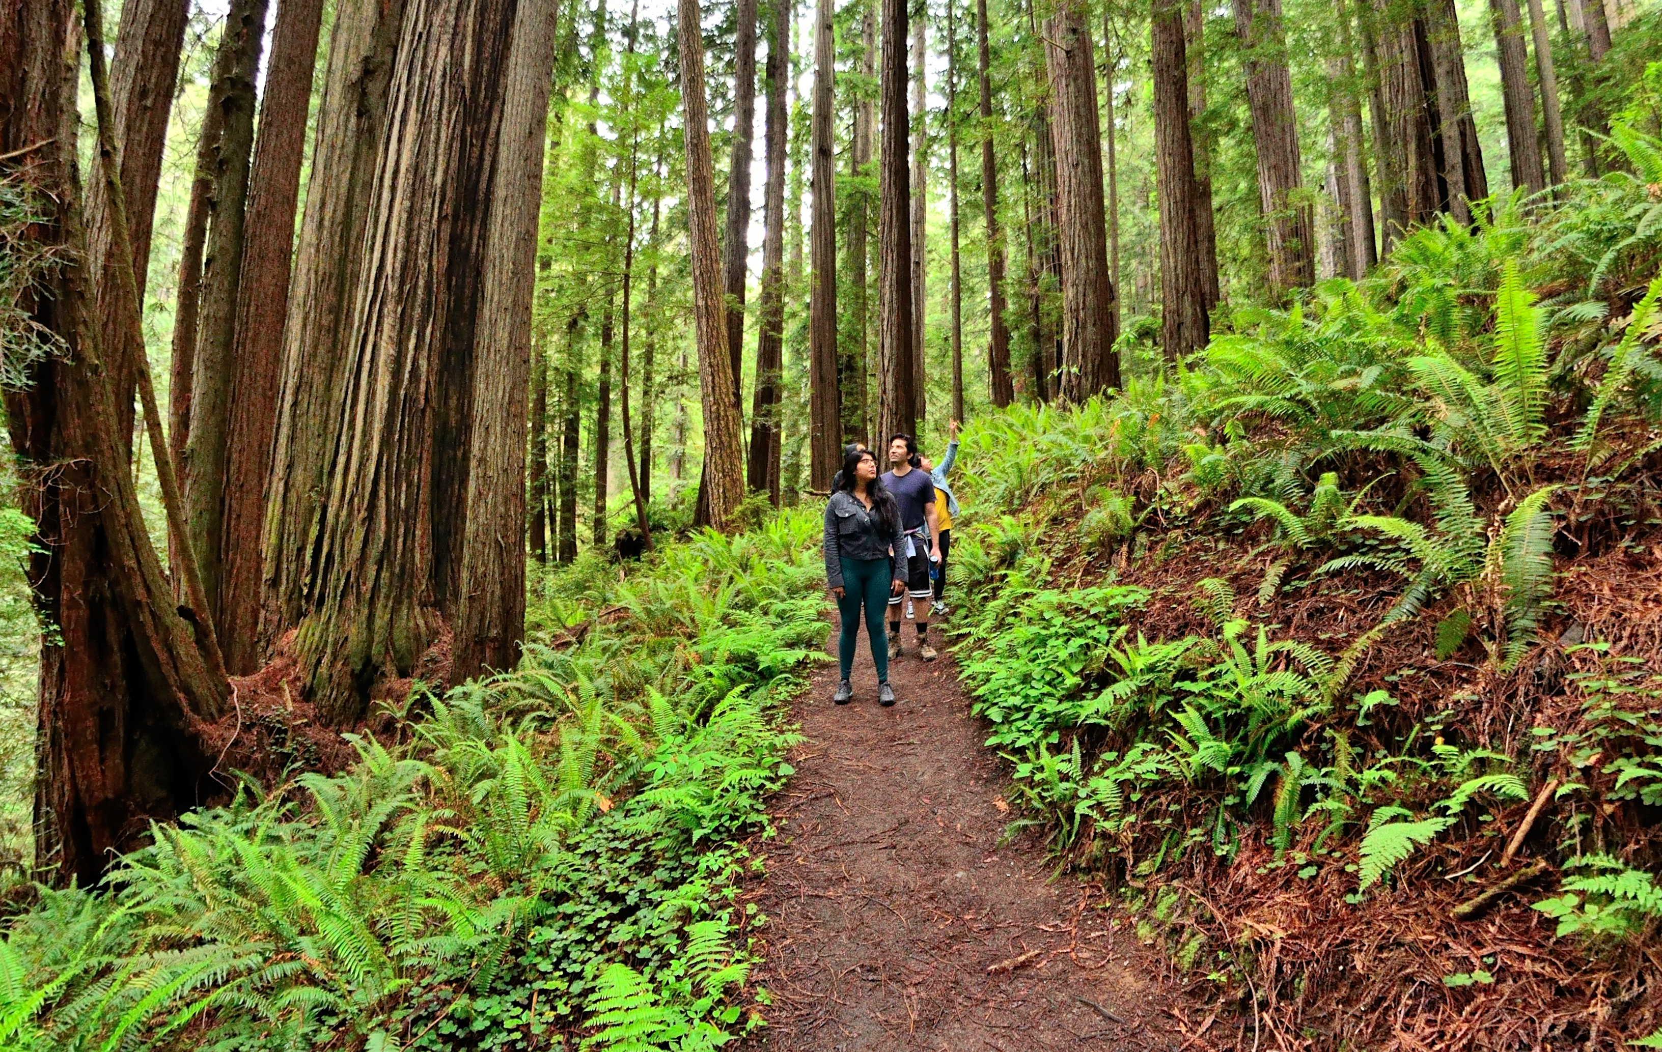
[[899,595],[906,587],[906,578],[896,577],[896,567],[904,563],[891,558],[899,535],[901,510],[878,480],[878,459],[864,449],[851,452],[843,460],[838,487],[826,504],[824,532],[826,585],[843,617],[843,633],[838,637],[843,681],[833,698],[838,705],[848,705],[854,698],[849,671],[854,668],[861,612],[866,615],[871,661],[878,666],[878,703],[894,705],[883,618],[889,608],[889,595]]

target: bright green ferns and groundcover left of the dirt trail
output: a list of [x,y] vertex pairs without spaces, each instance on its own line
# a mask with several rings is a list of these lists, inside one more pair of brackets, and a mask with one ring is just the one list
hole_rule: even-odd
[[713,1049],[791,768],[818,524],[538,582],[525,660],[5,922],[0,1047]]

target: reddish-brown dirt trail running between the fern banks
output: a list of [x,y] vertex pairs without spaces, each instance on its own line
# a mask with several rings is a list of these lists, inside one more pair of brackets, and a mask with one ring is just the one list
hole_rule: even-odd
[[907,653],[891,681],[884,710],[861,638],[854,703],[831,705],[834,663],[798,701],[804,741],[758,899],[774,1004],[750,1047],[1178,1049],[1152,954],[1080,884],[1047,882],[1030,838],[997,846],[1007,783],[952,660]]

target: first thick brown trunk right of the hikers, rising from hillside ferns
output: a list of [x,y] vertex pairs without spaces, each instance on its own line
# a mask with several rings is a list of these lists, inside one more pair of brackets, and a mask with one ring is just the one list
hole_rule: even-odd
[[1085,0],[1062,0],[1045,23],[1055,136],[1057,234],[1062,253],[1060,394],[1082,402],[1120,386],[1114,351],[1114,281],[1102,206],[1097,65]]

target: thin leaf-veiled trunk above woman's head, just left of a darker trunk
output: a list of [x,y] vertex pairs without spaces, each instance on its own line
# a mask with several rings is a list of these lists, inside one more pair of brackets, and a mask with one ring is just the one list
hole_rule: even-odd
[[[878,76],[878,13],[876,2],[866,5],[861,18],[861,81],[869,85]],[[869,372],[871,341],[871,253],[868,248],[868,231],[871,229],[871,193],[866,189],[871,176],[871,151],[876,136],[876,105],[869,95],[861,95],[854,101],[854,128],[849,143],[849,183],[848,196],[848,266],[849,266],[849,304],[846,311],[846,327],[839,341],[838,356],[838,391],[843,399],[843,442],[859,442],[868,439],[871,427],[871,387],[866,382]],[[841,467],[841,455],[838,457]],[[834,469],[833,469],[834,474]]]

